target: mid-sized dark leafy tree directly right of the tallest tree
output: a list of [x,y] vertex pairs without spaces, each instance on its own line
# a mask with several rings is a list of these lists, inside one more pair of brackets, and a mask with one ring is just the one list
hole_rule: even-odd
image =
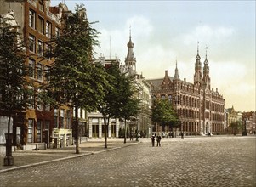
[[[111,88],[105,93],[104,105],[99,111],[103,115],[105,124],[105,148],[107,148],[107,133],[111,118],[129,119],[138,112],[139,101],[132,99],[134,88],[132,79],[121,72],[118,64],[112,64],[106,69],[110,75]],[[125,120],[125,124],[126,124]],[[126,129],[126,127],[125,127]],[[126,136],[126,133],[124,133]]]

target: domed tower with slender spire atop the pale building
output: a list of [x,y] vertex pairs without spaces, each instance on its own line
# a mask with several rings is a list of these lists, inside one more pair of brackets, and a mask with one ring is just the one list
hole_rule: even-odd
[[134,57],[134,43],[132,42],[131,29],[130,29],[129,42],[127,44],[127,47],[128,47],[128,54],[125,58],[125,66],[131,75],[135,75],[136,74],[136,58]]

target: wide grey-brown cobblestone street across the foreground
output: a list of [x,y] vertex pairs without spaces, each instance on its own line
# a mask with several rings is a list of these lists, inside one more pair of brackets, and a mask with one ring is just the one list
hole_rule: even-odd
[[4,186],[256,186],[256,137],[162,139],[0,173]]

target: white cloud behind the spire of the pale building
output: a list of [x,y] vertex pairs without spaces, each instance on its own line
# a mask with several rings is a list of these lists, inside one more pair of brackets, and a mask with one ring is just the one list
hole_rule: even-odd
[[151,48],[151,45],[148,45],[153,31],[151,21],[143,16],[134,16],[129,18],[126,24],[119,29],[100,30],[100,48],[95,48],[97,53],[95,57],[98,58],[100,54],[104,54],[105,58],[109,58],[110,55],[112,58],[117,56],[123,62],[128,52],[127,43],[130,27],[134,49],[136,49],[136,52],[134,51],[135,57],[139,56],[145,45],[147,45],[147,48]]

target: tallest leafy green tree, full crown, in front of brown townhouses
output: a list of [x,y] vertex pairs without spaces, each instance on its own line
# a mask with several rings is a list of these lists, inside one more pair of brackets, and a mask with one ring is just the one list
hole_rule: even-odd
[[54,58],[49,77],[44,86],[46,100],[55,107],[68,105],[75,112],[75,139],[78,145],[78,109],[95,111],[109,87],[107,74],[100,64],[92,63],[94,47],[99,45],[99,32],[85,18],[83,5],[65,18],[60,37],[51,41],[49,57]]

